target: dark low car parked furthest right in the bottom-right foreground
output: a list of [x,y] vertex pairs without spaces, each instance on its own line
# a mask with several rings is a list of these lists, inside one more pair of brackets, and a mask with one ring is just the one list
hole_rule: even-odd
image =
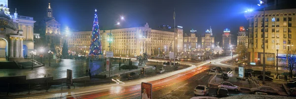
[[258,88],[251,88],[250,91],[253,93],[263,92],[263,93],[267,93],[268,95],[279,95],[279,90],[274,89],[270,86],[260,86]]

